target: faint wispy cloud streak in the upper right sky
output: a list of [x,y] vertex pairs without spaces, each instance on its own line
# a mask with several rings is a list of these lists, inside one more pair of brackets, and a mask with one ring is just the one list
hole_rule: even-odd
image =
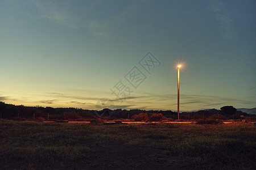
[[225,39],[234,38],[234,20],[229,16],[226,6],[221,1],[209,0],[209,8],[214,13],[220,28],[222,29],[222,36]]

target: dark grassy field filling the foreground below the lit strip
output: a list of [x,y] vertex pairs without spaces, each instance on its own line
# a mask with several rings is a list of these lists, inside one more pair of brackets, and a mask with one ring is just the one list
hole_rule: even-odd
[[252,124],[0,121],[1,169],[256,169]]

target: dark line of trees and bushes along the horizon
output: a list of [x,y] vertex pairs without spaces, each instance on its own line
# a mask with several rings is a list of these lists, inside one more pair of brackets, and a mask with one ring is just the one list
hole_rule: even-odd
[[[130,119],[137,121],[162,121],[177,120],[177,112],[143,109],[102,109],[94,111],[81,108],[52,108],[52,107],[26,107],[24,105],[6,104],[0,101],[1,118],[10,120],[77,120],[85,121],[94,118],[106,120]],[[206,109],[194,112],[181,112],[180,121],[198,119],[240,119],[251,116],[247,113],[237,111],[233,106],[224,106],[218,109]],[[253,115],[255,118],[255,115]]]

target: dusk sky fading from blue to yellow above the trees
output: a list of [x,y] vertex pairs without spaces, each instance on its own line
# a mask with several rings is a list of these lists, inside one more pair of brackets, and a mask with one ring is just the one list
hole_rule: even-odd
[[256,107],[256,1],[0,0],[0,101]]

